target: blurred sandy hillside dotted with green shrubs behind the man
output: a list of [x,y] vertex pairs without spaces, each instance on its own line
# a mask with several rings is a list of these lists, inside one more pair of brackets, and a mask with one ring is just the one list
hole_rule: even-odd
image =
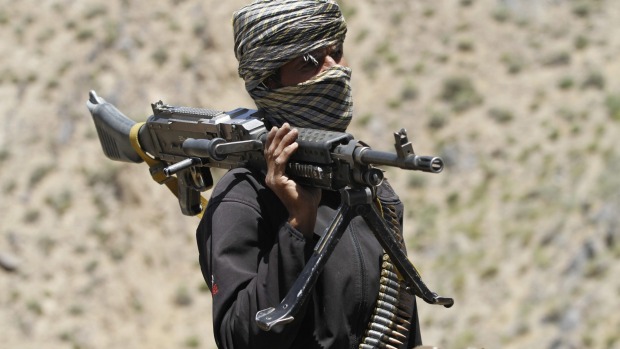
[[[215,348],[198,219],[103,155],[85,103],[253,108],[246,3],[0,0],[2,348]],[[446,162],[386,174],[410,259],[456,300],[420,305],[425,344],[620,348],[619,3],[339,3],[350,132],[389,151],[406,128]]]

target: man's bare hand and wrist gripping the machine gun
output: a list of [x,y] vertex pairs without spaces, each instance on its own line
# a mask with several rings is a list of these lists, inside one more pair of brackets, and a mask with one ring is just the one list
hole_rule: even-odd
[[280,198],[289,213],[289,223],[306,238],[312,237],[321,201],[321,190],[301,186],[286,176],[286,165],[299,147],[299,132],[288,123],[273,127],[265,143],[267,177],[265,183]]

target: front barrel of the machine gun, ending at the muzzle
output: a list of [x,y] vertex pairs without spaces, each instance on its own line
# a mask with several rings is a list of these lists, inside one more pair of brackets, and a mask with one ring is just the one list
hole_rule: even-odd
[[436,156],[419,156],[412,154],[402,158],[394,153],[368,148],[361,151],[359,154],[359,161],[366,165],[393,166],[405,170],[417,170],[431,173],[439,173],[443,170],[443,160]]

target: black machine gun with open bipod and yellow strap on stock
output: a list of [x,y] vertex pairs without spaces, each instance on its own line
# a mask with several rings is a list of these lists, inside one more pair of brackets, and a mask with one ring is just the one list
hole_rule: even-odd
[[[237,108],[225,112],[159,101],[152,104],[153,115],[145,123],[136,123],[94,91],[89,94],[87,107],[104,154],[115,161],[147,161],[157,182],[174,181],[176,184],[169,187],[176,191],[185,215],[198,215],[204,209],[200,193],[213,186],[211,168],[266,169],[263,145],[268,130],[260,111]],[[340,191],[342,202],[339,214],[285,299],[277,308],[257,313],[258,326],[269,330],[292,321],[349,221],[358,215],[371,227],[410,292],[430,304],[452,306],[451,298],[439,297],[422,282],[372,204],[374,188],[383,181],[383,172],[375,166],[439,173],[443,161],[416,155],[404,129],[394,134],[395,153],[372,150],[349,133],[298,130],[299,147],[287,165],[287,175],[303,185]]]

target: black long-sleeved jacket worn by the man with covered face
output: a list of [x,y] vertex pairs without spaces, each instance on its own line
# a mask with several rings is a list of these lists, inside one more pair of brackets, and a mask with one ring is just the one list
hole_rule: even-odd
[[[402,203],[387,182],[377,195],[397,207],[402,222]],[[289,291],[339,203],[338,192],[323,192],[316,238],[308,241],[288,224],[286,208],[262,174],[240,168],[220,179],[196,234],[219,348],[358,347],[378,294],[383,253],[362,217],[347,227],[293,322],[270,331],[255,322],[257,311],[278,305]],[[414,320],[410,347],[421,344],[417,314]]]

